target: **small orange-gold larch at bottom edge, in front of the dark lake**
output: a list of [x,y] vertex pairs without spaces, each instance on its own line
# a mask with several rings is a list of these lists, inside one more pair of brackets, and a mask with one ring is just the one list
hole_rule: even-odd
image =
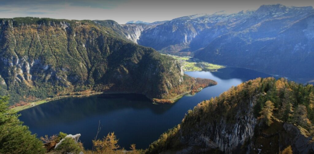
[[97,153],[115,153],[115,151],[120,148],[117,144],[118,141],[119,140],[116,139],[116,135],[113,132],[108,133],[102,140],[93,140],[93,145]]

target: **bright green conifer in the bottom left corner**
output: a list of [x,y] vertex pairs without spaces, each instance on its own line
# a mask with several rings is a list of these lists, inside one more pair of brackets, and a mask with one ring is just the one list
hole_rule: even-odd
[[43,143],[8,109],[8,100],[0,96],[0,153],[45,153]]

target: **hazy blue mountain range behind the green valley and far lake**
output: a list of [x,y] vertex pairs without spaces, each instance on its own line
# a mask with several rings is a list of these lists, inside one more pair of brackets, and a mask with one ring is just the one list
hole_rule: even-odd
[[257,10],[197,14],[149,25],[134,38],[161,53],[308,82],[314,76],[313,21],[313,7],[262,5]]

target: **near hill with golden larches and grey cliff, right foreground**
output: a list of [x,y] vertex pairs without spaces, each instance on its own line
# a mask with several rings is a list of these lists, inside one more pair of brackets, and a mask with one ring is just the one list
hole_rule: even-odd
[[147,153],[313,153],[313,105],[312,85],[250,80],[189,110]]

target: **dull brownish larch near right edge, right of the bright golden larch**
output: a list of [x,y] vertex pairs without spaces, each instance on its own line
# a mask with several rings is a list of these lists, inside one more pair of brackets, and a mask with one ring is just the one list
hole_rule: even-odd
[[293,117],[293,122],[301,127],[308,129],[311,127],[311,121],[307,118],[307,110],[306,107],[302,104],[298,105],[295,109],[295,114]]

